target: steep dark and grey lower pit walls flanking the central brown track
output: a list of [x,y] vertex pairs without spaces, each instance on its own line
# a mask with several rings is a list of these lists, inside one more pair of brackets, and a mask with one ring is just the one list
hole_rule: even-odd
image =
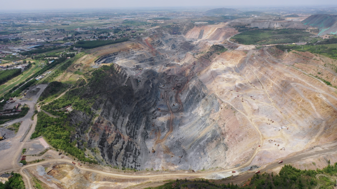
[[[235,128],[237,134],[239,129],[232,124],[240,124],[231,118],[233,113],[228,112],[229,106],[225,107],[215,95],[208,94],[207,88],[197,76],[192,77],[179,93],[183,109],[174,113],[173,132],[163,143],[170,153],[165,153],[161,144],[154,146],[157,150],[155,154],[150,153],[156,140],[152,124],[155,123],[161,130],[162,137],[169,127],[168,121],[155,121],[156,118],[169,115],[156,110],[160,94],[163,94],[158,88],[161,85],[159,83],[164,83],[168,76],[147,70],[141,74],[140,83],[136,84],[135,80],[129,79],[127,86],[121,86],[128,77],[126,69],[129,68],[116,67],[119,72],[106,78],[103,85],[106,86],[104,91],[117,90],[100,95],[94,104],[94,109],[101,109],[94,125],[90,125],[92,118],[81,112],[74,111],[71,119],[72,124],[80,123],[72,140],[77,139],[78,145],[82,146],[82,139],[83,142],[88,142],[88,148],[98,148],[100,153],[97,154],[97,159],[101,164],[120,168],[195,170],[239,164],[239,161],[227,161],[226,156],[228,146],[233,145],[227,142],[231,143],[237,137],[231,130]],[[183,80],[184,77],[181,81]],[[172,107],[173,111],[178,108],[174,94],[175,91],[169,92],[170,104],[176,103],[176,107]],[[221,116],[226,120],[220,121]],[[87,129],[90,129],[88,136],[85,134]],[[251,154],[248,149],[243,149],[247,150],[247,156]],[[241,152],[234,153],[237,155]]]

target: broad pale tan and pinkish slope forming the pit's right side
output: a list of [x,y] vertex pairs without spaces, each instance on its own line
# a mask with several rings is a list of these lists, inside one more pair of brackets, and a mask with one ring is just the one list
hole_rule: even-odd
[[[288,66],[293,61],[266,59],[273,57],[263,50],[245,53],[223,53],[199,78],[210,93],[237,110],[236,117],[244,115],[261,132],[262,144],[252,165],[335,141],[336,89]],[[233,60],[243,56],[244,61]],[[241,144],[233,146],[240,149]]]

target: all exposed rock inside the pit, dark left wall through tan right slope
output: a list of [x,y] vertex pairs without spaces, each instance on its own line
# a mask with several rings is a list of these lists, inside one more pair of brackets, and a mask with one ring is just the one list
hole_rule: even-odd
[[96,96],[98,116],[72,113],[78,145],[103,164],[198,170],[256,167],[335,140],[334,89],[292,67],[323,61],[265,49],[212,52],[206,30],[159,29],[136,41],[138,50],[112,55],[114,69],[83,95]]

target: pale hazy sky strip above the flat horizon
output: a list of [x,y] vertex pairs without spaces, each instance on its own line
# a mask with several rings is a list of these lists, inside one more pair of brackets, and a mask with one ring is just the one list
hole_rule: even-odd
[[239,7],[337,5],[337,0],[0,0],[0,12],[22,9],[83,9],[136,7]]

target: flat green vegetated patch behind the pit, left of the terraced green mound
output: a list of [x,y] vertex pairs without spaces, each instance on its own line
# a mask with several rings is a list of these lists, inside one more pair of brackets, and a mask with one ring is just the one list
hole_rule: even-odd
[[231,39],[244,45],[275,44],[308,41],[311,34],[303,30],[293,29],[261,29],[238,33]]

